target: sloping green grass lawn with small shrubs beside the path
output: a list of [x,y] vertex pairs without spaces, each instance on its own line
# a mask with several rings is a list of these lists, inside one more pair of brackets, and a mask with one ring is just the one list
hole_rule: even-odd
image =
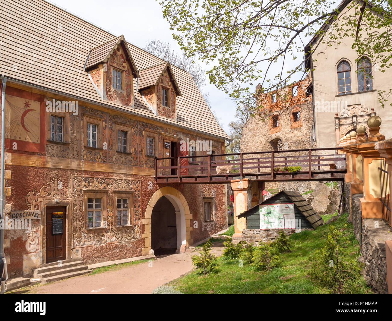
[[[358,258],[359,245],[352,224],[347,223],[347,214],[332,224],[347,230],[349,242],[344,249],[344,258]],[[322,225],[314,231],[291,235],[292,252],[281,254],[281,266],[270,271],[256,271],[245,264],[240,267],[238,259],[220,257],[218,273],[200,276],[193,271],[169,285],[182,293],[329,293],[328,289],[318,287],[308,275],[309,256],[323,247],[327,234],[327,226]],[[358,286],[358,293],[371,293],[365,281]]]

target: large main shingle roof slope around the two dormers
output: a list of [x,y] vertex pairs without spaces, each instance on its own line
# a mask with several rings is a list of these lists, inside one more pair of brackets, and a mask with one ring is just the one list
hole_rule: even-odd
[[[92,49],[117,39],[115,35],[43,0],[3,0],[0,21],[0,73],[11,81],[229,139],[191,75],[182,69],[171,68],[182,94],[177,98],[177,120],[159,117],[136,91],[137,78],[134,108],[103,100],[92,85],[84,69],[87,57]],[[128,43],[128,49],[136,70],[166,63],[135,45]]]

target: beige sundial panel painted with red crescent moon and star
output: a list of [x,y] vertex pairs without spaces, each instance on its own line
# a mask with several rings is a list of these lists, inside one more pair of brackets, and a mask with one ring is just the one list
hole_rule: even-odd
[[5,137],[40,143],[40,102],[5,96]]

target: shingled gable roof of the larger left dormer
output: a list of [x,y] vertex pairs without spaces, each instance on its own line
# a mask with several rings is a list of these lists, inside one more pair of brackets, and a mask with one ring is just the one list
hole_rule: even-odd
[[124,46],[125,53],[127,53],[127,60],[129,64],[132,66],[133,69],[132,72],[134,73],[134,76],[140,77],[135,62],[133,61],[132,55],[129,53],[129,48],[123,35],[116,37],[109,42],[105,42],[105,44],[99,45],[98,47],[91,49],[89,55],[87,56],[84,69],[88,70],[91,69],[92,67],[95,67],[99,63],[107,62],[110,55],[113,53],[116,47],[121,43]]

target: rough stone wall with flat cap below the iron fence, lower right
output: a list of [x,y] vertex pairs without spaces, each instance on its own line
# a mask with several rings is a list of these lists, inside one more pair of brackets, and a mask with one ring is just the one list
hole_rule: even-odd
[[364,276],[374,291],[385,294],[387,287],[387,258],[385,241],[392,240],[390,226],[382,219],[363,219],[362,246],[359,261],[365,264]]

